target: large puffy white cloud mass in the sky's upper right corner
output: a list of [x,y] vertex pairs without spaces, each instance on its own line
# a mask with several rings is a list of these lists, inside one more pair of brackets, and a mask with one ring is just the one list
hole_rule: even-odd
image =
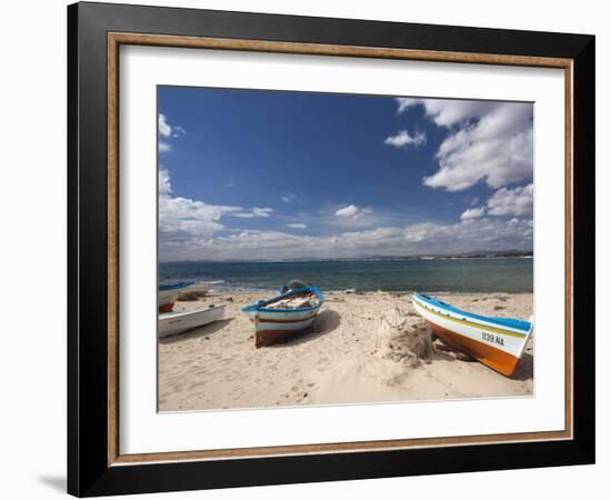
[[435,153],[439,170],[423,179],[432,188],[462,191],[484,180],[492,189],[532,177],[532,104],[399,98],[398,111],[423,106],[450,130]]

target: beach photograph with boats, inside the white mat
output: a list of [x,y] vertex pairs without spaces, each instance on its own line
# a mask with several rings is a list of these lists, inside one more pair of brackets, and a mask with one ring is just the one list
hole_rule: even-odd
[[533,106],[158,87],[158,410],[527,398]]

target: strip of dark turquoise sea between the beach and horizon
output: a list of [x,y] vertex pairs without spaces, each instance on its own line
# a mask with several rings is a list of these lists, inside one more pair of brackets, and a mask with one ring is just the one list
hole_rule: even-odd
[[291,279],[321,290],[532,292],[533,259],[337,260],[311,262],[172,262],[160,283],[221,281],[217,289],[278,290]]

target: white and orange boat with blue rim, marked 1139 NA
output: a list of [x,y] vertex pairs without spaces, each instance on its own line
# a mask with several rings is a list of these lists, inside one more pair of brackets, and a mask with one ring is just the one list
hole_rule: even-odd
[[513,374],[532,334],[532,317],[522,321],[474,314],[423,293],[414,293],[412,302],[438,337],[499,373]]

